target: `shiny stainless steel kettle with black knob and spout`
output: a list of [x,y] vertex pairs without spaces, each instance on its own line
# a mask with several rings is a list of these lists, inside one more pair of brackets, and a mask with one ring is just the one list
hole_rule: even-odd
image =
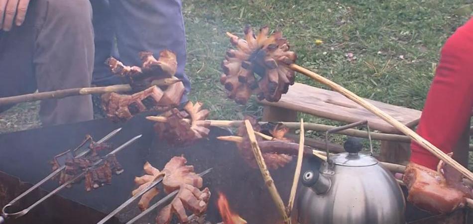
[[[367,121],[333,128],[328,135],[366,124]],[[298,197],[299,224],[404,224],[405,201],[393,175],[369,154],[360,153],[361,142],[349,138],[346,152],[330,156],[327,162],[309,161],[303,170],[303,187]]]

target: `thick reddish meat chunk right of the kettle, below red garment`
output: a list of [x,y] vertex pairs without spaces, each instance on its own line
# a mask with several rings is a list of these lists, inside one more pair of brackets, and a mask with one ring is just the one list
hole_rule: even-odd
[[465,193],[447,184],[444,176],[427,167],[409,163],[403,177],[407,201],[434,214],[450,213],[465,206]]

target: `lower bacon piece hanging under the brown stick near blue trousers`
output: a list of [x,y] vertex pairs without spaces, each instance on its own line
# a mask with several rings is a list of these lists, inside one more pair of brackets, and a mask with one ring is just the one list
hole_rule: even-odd
[[127,120],[136,113],[152,110],[162,96],[163,92],[156,86],[133,95],[104,94],[102,95],[102,109],[112,120]]

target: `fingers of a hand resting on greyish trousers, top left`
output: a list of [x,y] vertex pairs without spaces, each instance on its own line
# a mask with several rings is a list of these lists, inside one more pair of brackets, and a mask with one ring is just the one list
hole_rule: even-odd
[[9,31],[15,25],[24,22],[29,0],[0,0],[0,29]]

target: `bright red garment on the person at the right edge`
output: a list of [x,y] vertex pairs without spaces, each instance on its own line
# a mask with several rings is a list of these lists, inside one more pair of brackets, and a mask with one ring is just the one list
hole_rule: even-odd
[[[445,43],[417,133],[445,153],[453,151],[473,107],[473,18]],[[413,142],[411,162],[436,169],[439,159]]]

